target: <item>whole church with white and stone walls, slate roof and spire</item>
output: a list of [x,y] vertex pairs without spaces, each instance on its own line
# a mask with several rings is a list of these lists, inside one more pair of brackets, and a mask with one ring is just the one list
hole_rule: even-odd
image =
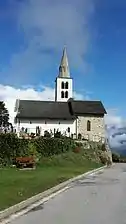
[[60,131],[74,138],[100,141],[105,138],[104,115],[101,101],[75,100],[66,48],[63,50],[59,74],[55,80],[55,101],[16,100],[15,124],[17,133]]

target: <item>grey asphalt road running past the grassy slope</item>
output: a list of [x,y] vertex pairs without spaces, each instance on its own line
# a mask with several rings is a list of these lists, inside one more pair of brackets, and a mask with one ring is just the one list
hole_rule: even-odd
[[126,164],[72,184],[11,224],[126,224]]

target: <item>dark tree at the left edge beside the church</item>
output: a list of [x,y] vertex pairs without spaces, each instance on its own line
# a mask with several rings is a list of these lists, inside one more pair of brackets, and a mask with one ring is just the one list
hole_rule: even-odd
[[0,101],[0,127],[6,127],[9,125],[9,113],[5,107],[5,103]]

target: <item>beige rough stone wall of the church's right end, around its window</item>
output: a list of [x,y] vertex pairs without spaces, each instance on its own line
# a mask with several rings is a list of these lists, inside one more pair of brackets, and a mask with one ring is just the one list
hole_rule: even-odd
[[[87,131],[87,121],[90,121],[91,130]],[[105,138],[104,117],[96,116],[80,116],[77,120],[77,132],[82,135],[82,138],[91,141],[99,141]]]

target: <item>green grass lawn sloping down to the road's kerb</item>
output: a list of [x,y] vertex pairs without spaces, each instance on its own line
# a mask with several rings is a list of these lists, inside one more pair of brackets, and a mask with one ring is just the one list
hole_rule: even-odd
[[0,210],[100,166],[81,154],[66,153],[42,159],[33,171],[0,169]]

